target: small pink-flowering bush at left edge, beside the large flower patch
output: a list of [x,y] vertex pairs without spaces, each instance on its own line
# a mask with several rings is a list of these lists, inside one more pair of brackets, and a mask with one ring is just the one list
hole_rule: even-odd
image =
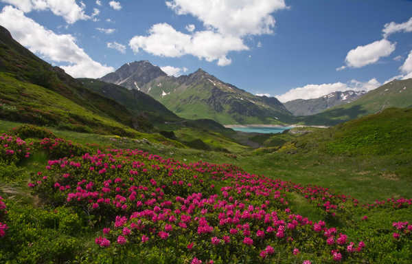
[[21,159],[30,157],[32,151],[32,143],[27,144],[20,137],[0,135],[0,161],[19,162]]

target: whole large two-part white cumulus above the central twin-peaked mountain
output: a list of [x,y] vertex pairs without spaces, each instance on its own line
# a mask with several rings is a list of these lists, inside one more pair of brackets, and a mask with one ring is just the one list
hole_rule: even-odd
[[284,0],[172,0],[168,8],[179,15],[190,14],[205,26],[195,32],[194,25],[185,28],[190,34],[179,32],[167,23],[152,25],[148,36],[135,36],[130,47],[156,56],[179,57],[186,54],[206,61],[217,61],[219,66],[230,65],[229,52],[249,50],[244,38],[271,34],[276,10],[287,8]]

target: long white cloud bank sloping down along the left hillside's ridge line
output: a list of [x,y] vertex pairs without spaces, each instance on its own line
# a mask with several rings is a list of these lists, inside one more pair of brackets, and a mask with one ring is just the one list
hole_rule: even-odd
[[98,78],[114,71],[113,67],[93,61],[70,34],[55,34],[10,5],[1,11],[0,24],[30,51],[56,63],[69,63],[60,67],[73,77]]

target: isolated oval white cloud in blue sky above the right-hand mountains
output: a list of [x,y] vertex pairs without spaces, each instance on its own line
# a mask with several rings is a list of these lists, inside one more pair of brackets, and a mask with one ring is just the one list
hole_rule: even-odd
[[347,52],[345,59],[348,67],[363,67],[376,63],[379,58],[389,56],[396,47],[396,43],[391,43],[387,39],[375,41],[365,46],[358,46],[354,50]]

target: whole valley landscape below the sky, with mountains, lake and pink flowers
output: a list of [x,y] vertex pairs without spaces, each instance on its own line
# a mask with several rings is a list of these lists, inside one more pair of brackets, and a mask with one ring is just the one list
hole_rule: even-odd
[[412,79],[282,104],[0,33],[0,263],[410,263]]

